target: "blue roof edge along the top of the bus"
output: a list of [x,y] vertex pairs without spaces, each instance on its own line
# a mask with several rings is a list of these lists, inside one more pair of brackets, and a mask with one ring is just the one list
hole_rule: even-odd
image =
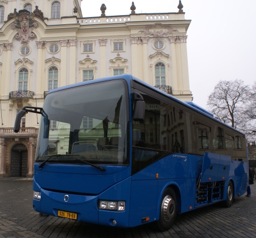
[[[183,102],[180,101],[178,98],[175,98],[169,94],[167,94],[166,92],[163,92],[160,89],[157,89],[156,87],[151,86],[148,83],[145,83],[144,81],[130,75],[130,74],[123,74],[123,75],[116,75],[116,76],[112,76],[112,77],[105,77],[105,78],[98,78],[96,80],[90,80],[90,81],[85,81],[85,82],[81,82],[81,83],[75,83],[75,84],[70,84],[67,86],[63,86],[63,87],[58,87],[57,89],[52,89],[51,91],[48,92],[48,94],[52,94],[53,92],[57,92],[60,90],[65,90],[65,89],[71,89],[74,87],[79,87],[79,86],[84,86],[87,84],[93,84],[93,83],[100,83],[100,82],[104,82],[104,81],[110,81],[110,80],[120,80],[120,79],[124,79],[127,81],[128,84],[132,84],[130,81],[135,81],[136,83],[142,84],[143,86],[149,87],[152,90],[157,91],[158,93],[165,95],[168,98],[171,98],[172,100],[176,101],[177,103],[182,104],[185,107],[188,107],[196,112],[199,112],[200,114],[204,115],[205,117],[208,117],[214,121],[217,121],[218,123],[223,124],[224,126],[229,127],[230,129],[233,129],[234,131],[239,132],[240,134],[243,134],[243,132],[238,131],[237,129],[233,128],[232,126],[229,126],[226,123],[223,123],[222,121],[219,121],[218,119],[213,117],[213,114],[211,114],[210,112],[208,112],[207,110],[205,110],[204,108],[202,108],[201,106],[198,106],[197,104],[191,102],[191,101],[187,101],[187,102]],[[243,134],[244,135],[244,134]]]

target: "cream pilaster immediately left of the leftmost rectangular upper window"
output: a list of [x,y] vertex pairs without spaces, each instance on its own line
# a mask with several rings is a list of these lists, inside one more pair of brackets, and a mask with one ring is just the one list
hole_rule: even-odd
[[76,39],[69,39],[69,82],[76,83]]

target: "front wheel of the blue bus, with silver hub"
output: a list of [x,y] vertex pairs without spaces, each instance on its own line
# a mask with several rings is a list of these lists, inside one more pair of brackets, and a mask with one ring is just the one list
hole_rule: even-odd
[[172,188],[166,188],[163,193],[160,206],[160,216],[157,221],[157,228],[160,231],[167,231],[171,228],[177,215],[176,194]]

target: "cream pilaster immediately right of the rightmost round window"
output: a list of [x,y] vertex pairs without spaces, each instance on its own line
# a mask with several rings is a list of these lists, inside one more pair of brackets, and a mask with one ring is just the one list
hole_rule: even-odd
[[171,56],[171,87],[172,94],[178,94],[178,77],[177,77],[177,62],[176,62],[176,36],[169,36],[170,41],[170,56]]

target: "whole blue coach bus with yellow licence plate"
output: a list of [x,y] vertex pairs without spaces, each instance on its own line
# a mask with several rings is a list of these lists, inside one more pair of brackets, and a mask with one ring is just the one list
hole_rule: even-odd
[[99,225],[154,222],[169,230],[177,214],[247,188],[244,134],[132,75],[51,90],[41,114],[34,163],[38,213]]

